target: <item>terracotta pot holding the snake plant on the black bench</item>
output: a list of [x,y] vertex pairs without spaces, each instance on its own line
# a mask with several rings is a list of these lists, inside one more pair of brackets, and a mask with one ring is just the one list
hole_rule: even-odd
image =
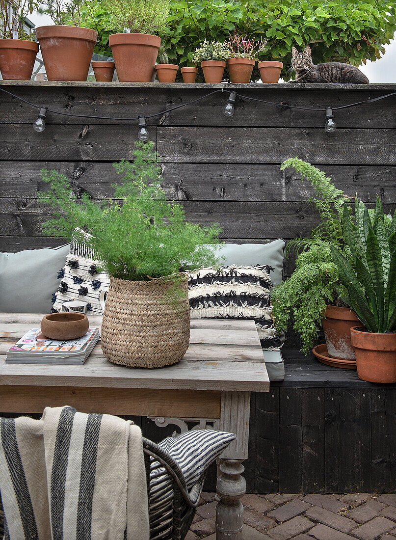
[[375,334],[351,328],[358,377],[368,382],[396,382],[396,334]]

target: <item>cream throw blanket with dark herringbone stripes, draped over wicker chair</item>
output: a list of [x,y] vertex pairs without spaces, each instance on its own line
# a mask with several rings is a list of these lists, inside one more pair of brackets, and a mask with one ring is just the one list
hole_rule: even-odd
[[0,419],[5,540],[148,540],[141,431],[130,421],[46,408]]

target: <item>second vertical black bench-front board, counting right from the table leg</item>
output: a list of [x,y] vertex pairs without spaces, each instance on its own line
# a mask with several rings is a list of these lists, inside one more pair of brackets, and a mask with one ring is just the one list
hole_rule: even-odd
[[279,388],[279,492],[324,485],[324,389]]

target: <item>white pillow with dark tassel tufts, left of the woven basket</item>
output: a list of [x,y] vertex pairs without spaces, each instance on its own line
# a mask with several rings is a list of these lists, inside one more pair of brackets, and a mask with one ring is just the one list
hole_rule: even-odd
[[66,264],[59,270],[58,279],[58,290],[52,295],[52,311],[62,311],[64,302],[81,300],[87,302],[88,313],[103,315],[99,296],[102,291],[108,292],[110,280],[90,246],[72,238]]

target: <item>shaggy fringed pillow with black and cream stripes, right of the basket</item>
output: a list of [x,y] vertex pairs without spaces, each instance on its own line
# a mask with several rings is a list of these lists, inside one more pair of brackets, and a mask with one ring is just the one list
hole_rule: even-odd
[[189,272],[188,298],[194,319],[251,319],[263,349],[279,350],[282,339],[272,320],[268,265],[223,266]]

